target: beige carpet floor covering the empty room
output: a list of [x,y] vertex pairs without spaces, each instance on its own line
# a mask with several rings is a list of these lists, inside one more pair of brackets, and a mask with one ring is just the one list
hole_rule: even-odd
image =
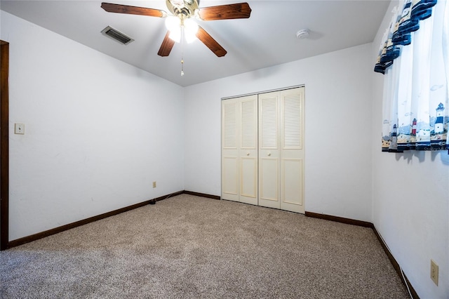
[[0,252],[0,298],[408,298],[373,230],[182,194]]

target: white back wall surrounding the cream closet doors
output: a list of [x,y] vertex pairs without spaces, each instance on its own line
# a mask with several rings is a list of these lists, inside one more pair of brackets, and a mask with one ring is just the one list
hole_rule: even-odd
[[305,209],[371,221],[370,49],[185,88],[185,189],[220,195],[221,98],[305,84]]

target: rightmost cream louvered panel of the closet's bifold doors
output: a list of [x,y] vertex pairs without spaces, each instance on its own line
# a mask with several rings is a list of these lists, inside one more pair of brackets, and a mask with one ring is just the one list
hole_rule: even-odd
[[304,87],[280,92],[281,209],[304,213]]

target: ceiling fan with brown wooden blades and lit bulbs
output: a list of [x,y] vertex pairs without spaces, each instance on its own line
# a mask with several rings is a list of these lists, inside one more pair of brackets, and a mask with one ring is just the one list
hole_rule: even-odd
[[[111,4],[105,2],[101,4],[101,7],[109,13],[127,13],[131,15],[147,15],[149,17],[172,18],[172,20],[175,20],[175,25],[177,24],[177,27],[180,30],[193,27],[194,35],[218,57],[225,56],[227,51],[220,44],[218,44],[217,41],[215,41],[215,39],[213,39],[213,37],[206,32],[206,30],[201,28],[199,25],[196,25],[195,22],[192,22],[192,18],[203,21],[230,20],[249,18],[251,13],[251,8],[248,3],[225,4],[203,8],[198,7],[199,0],[166,0],[166,4],[168,11],[170,11],[172,15],[168,15],[165,11],[154,8]],[[166,25],[168,26],[167,23],[168,22],[166,22]],[[177,36],[175,36],[175,33],[178,33]],[[162,41],[161,48],[159,48],[158,55],[168,56],[175,44],[174,39],[179,39],[179,37],[182,38],[182,36],[180,36],[181,34],[182,31],[175,32],[175,29],[168,29],[168,32]]]

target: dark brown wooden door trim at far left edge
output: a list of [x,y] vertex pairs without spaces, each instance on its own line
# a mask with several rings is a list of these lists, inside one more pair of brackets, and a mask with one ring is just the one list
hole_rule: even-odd
[[9,241],[9,43],[0,41],[0,47],[0,250],[5,250]]

